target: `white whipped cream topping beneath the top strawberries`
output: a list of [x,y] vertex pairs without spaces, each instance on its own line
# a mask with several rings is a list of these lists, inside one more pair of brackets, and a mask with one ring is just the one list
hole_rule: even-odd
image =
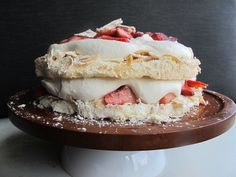
[[139,50],[147,50],[157,57],[171,55],[178,59],[193,59],[191,48],[178,43],[177,41],[156,41],[149,35],[132,38],[130,42],[120,42],[103,39],[83,39],[70,41],[64,44],[53,44],[49,48],[49,56],[56,52],[76,51],[81,55],[92,55],[97,59],[109,61],[121,59]]

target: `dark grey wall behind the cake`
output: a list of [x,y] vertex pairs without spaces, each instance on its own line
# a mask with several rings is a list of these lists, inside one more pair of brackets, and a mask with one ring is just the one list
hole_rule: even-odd
[[235,0],[2,0],[0,117],[7,115],[10,95],[39,85],[34,59],[50,44],[120,17],[191,46],[202,62],[199,80],[236,100]]

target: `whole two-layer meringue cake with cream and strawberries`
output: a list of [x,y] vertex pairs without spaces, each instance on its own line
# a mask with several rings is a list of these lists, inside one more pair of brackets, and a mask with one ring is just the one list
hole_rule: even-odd
[[86,119],[173,122],[205,104],[200,61],[164,33],[114,20],[52,44],[35,60],[38,107]]

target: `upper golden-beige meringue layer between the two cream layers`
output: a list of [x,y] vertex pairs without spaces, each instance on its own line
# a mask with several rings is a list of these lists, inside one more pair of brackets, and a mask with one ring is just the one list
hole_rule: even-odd
[[[143,78],[157,80],[184,80],[195,78],[200,72],[200,61],[179,60],[172,56],[159,59],[121,59],[119,61],[102,61],[89,56],[49,57],[48,55],[35,60],[36,74],[48,78]],[[86,58],[87,57],[87,58]],[[122,61],[123,60],[123,61]]]

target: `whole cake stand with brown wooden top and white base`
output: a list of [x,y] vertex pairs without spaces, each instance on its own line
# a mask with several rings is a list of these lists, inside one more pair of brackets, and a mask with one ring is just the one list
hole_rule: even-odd
[[163,124],[114,123],[58,114],[35,106],[45,92],[26,90],[8,101],[9,118],[21,130],[64,145],[61,161],[72,177],[158,177],[166,148],[214,138],[234,123],[236,105],[228,97],[204,91],[201,105],[181,121]]

